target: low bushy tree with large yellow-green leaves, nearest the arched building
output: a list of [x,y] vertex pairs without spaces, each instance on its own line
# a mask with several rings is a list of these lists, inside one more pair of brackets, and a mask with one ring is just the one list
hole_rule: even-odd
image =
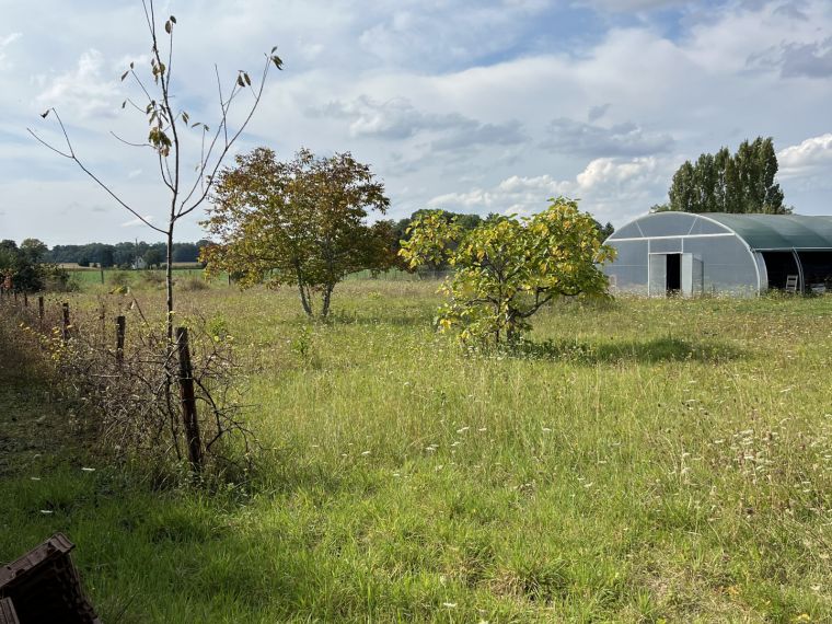
[[446,255],[455,270],[442,287],[450,301],[439,311],[439,326],[458,331],[465,343],[495,345],[517,340],[556,297],[604,294],[598,265],[613,258],[592,217],[563,197],[533,217],[489,219],[467,233],[425,213],[400,254],[412,268]]

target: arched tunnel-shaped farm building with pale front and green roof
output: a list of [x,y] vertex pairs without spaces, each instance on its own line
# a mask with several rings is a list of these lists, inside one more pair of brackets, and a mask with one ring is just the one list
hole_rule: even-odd
[[606,240],[613,291],[650,297],[832,290],[832,217],[657,212]]

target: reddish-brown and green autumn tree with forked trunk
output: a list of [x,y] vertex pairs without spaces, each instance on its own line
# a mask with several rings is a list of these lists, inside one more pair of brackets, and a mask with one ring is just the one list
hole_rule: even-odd
[[297,286],[304,312],[326,316],[344,277],[394,264],[390,222],[367,222],[389,205],[384,185],[349,153],[316,158],[302,149],[280,162],[257,148],[220,173],[203,222],[217,244],[200,258],[243,287]]

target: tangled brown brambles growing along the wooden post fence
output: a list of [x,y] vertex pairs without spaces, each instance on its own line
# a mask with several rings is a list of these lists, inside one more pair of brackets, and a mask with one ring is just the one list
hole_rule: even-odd
[[[107,301],[100,298],[94,310],[74,309],[66,333],[55,319],[41,322],[28,309],[16,310],[16,315],[20,327],[51,360],[58,389],[79,404],[77,426],[93,437],[102,453],[138,459],[146,467],[172,469],[188,457],[177,353],[166,348],[164,325],[148,323],[135,299],[126,311],[127,339],[119,348],[116,319],[106,315]],[[198,443],[206,458],[192,469],[247,464],[254,437],[241,417],[233,342],[227,332],[217,335],[216,322],[198,315],[180,323],[190,330]]]

